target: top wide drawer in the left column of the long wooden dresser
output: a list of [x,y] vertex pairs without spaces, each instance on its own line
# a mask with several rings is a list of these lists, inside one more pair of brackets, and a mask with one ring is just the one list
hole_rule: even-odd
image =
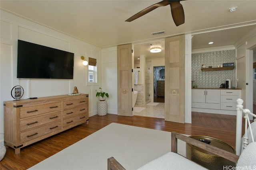
[[61,102],[42,104],[30,107],[20,107],[20,119],[52,111],[61,111]]

